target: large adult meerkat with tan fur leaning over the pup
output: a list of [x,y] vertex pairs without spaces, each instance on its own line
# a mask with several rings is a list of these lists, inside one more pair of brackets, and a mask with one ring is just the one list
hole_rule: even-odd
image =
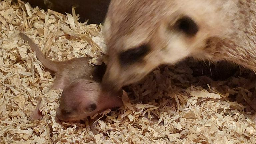
[[254,0],[112,0],[103,84],[119,89],[189,56],[256,69]]

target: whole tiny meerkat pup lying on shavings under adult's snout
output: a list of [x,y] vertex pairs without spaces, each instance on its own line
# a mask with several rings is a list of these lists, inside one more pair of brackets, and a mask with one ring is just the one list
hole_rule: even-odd
[[[100,74],[88,65],[89,58],[74,58],[57,62],[45,58],[39,47],[25,34],[20,37],[27,41],[39,61],[48,69],[56,72],[54,89],[63,89],[60,106],[56,116],[61,120],[73,121],[104,111],[108,108],[122,106],[122,101],[113,93],[101,90]],[[95,80],[90,76],[93,75]],[[32,119],[38,118],[38,109],[32,113]]]

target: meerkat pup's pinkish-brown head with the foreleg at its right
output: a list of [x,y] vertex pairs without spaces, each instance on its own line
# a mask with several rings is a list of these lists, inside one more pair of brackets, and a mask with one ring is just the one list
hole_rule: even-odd
[[120,94],[102,91],[100,84],[92,80],[75,80],[63,89],[56,116],[61,120],[76,121],[106,109],[120,107]]

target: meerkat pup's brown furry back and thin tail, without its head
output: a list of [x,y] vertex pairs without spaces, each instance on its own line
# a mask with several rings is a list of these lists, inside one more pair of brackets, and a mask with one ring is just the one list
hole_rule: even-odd
[[77,78],[90,78],[93,68],[89,66],[88,57],[74,58],[67,61],[51,61],[45,58],[40,48],[25,34],[19,33],[20,37],[28,42],[32,51],[36,52],[38,60],[48,69],[56,73],[56,79],[52,89],[64,89]]

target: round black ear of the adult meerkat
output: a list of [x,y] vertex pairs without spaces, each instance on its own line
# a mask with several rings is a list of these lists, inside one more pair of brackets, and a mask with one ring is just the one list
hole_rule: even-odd
[[188,16],[178,19],[175,25],[178,30],[183,31],[188,36],[194,36],[199,30],[195,21]]

